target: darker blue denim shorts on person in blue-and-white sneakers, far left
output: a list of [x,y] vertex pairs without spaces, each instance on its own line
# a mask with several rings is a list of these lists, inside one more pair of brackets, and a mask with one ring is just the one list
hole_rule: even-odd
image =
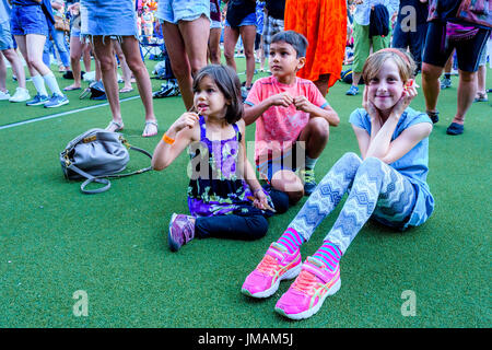
[[10,25],[12,35],[38,34],[48,36],[48,20],[40,5],[12,5]]

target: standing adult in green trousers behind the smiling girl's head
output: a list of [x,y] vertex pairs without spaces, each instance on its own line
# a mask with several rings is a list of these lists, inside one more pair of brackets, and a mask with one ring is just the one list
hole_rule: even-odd
[[359,94],[359,81],[362,75],[362,68],[365,60],[371,54],[371,46],[373,52],[376,52],[383,48],[389,47],[391,36],[391,25],[388,20],[388,35],[376,35],[370,37],[370,19],[371,11],[377,4],[383,4],[388,10],[389,18],[394,16],[398,11],[398,0],[349,0],[349,3],[355,4],[355,12],[353,14],[353,79],[352,85],[347,95],[354,96]]

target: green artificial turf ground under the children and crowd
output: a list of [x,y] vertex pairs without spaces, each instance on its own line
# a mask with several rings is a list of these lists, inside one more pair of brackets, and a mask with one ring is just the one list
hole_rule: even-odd
[[[155,62],[148,65],[151,70]],[[244,71],[243,61],[238,69]],[[71,83],[57,75],[62,88]],[[13,91],[10,71],[8,77]],[[162,81],[152,82],[159,90]],[[430,141],[427,180],[435,212],[406,233],[364,226],[341,260],[341,290],[303,322],[273,311],[290,282],[262,301],[244,296],[241,285],[305,199],[269,219],[262,240],[196,240],[171,253],[169,217],[188,212],[186,154],[164,172],[113,180],[107,192],[83,195],[80,183],[63,178],[58,155],[78,135],[106,127],[109,107],[63,115],[102,104],[80,101],[80,92],[69,92],[70,104],[57,109],[0,102],[0,327],[490,327],[492,109],[490,102],[475,103],[465,133],[447,136],[456,86],[454,77],[453,88],[440,96],[441,121]],[[28,88],[34,95],[33,84]],[[348,119],[362,96],[345,96],[348,88],[339,82],[327,96],[341,122],[330,130],[318,179],[344,152],[359,152]],[[424,110],[419,92],[412,107]],[[121,107],[125,136],[151,152],[184,112],[180,97],[154,100],[160,132],[144,139],[141,101],[125,101]],[[52,115],[58,116],[15,124]],[[247,131],[253,140],[254,127]],[[145,156],[130,155],[128,170],[148,166]],[[302,247],[303,257],[317,249],[338,212]],[[81,290],[89,296],[89,315],[78,317],[73,295]],[[415,295],[415,316],[401,313],[408,290]]]

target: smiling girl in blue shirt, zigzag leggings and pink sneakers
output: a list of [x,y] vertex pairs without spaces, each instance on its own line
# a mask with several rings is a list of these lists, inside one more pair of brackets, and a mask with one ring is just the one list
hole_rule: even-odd
[[[302,319],[319,311],[341,285],[340,259],[370,219],[397,230],[423,224],[434,210],[426,183],[432,121],[409,107],[415,97],[413,59],[387,48],[363,69],[363,108],[350,116],[361,155],[335,163],[280,238],[272,243],[243,284],[254,298],[272,295],[283,279],[295,278],[276,311]],[[349,192],[321,246],[301,264],[300,247]]]

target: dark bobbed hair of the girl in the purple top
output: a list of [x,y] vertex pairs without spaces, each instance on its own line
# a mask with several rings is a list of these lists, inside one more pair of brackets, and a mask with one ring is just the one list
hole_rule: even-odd
[[225,119],[234,124],[243,117],[243,98],[241,96],[241,81],[234,69],[223,65],[209,65],[200,69],[194,78],[194,92],[204,77],[210,77],[230,102],[225,112]]

